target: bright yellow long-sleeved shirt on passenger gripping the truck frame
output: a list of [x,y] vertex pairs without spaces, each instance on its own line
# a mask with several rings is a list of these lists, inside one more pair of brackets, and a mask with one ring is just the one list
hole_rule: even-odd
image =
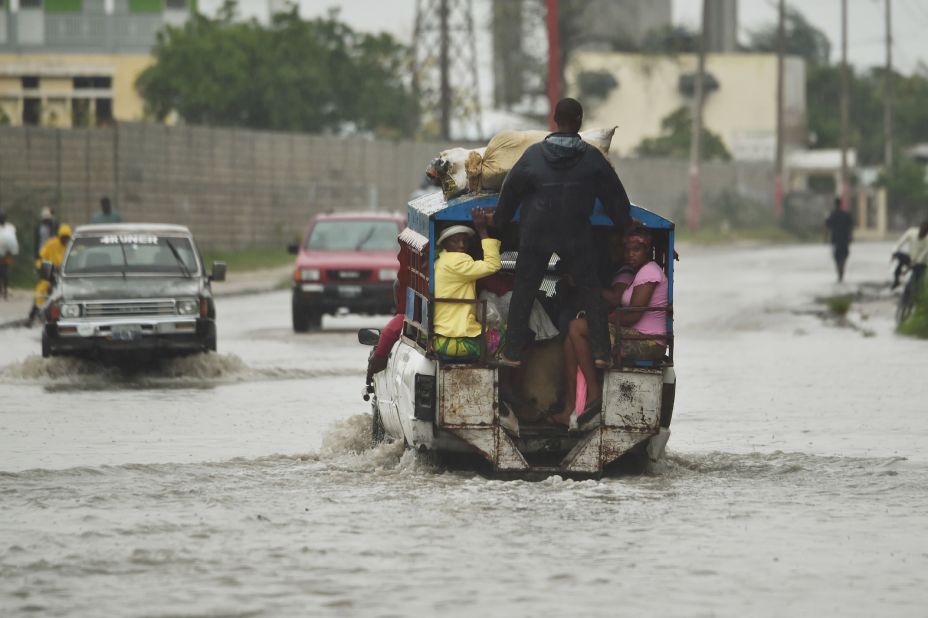
[[[442,251],[435,260],[435,298],[477,298],[475,281],[498,271],[500,242],[495,238],[480,241],[483,259],[474,260],[466,253]],[[470,303],[435,303],[435,332],[445,337],[477,337],[480,322],[476,307]]]

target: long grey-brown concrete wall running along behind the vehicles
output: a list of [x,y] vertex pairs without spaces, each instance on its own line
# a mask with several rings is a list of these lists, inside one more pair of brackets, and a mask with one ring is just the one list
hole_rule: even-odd
[[[62,221],[81,224],[108,195],[125,220],[188,225],[204,246],[282,246],[319,212],[403,211],[442,149],[436,143],[155,124],[0,127],[0,209],[28,209],[37,218],[50,205]],[[634,202],[683,220],[686,161],[614,162]],[[708,224],[730,218],[729,210],[742,203],[769,209],[772,170],[710,163],[702,187]]]

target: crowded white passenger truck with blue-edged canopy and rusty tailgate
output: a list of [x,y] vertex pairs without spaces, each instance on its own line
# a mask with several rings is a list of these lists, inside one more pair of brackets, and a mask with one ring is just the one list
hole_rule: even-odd
[[[410,201],[407,227],[400,233],[401,288],[404,289],[402,334],[391,350],[385,370],[375,373],[365,388],[371,402],[372,439],[401,440],[407,447],[433,453],[443,461],[470,461],[493,473],[600,476],[623,461],[657,460],[670,437],[676,388],[673,363],[674,224],[653,212],[631,207],[632,217],[654,237],[653,259],[668,280],[666,353],[661,360],[623,358],[605,370],[603,409],[598,420],[582,431],[525,417],[514,422],[513,406],[501,398],[500,372],[485,354],[477,361],[442,358],[431,345],[434,296],[435,240],[442,226],[467,223],[473,208],[492,210],[498,195],[468,194],[446,200],[441,193]],[[597,203],[591,217],[594,235],[604,237],[612,221]],[[506,234],[503,234],[506,236]],[[513,270],[514,246],[503,244],[503,270]],[[507,250],[508,249],[508,250]],[[540,297],[555,294],[559,277],[556,256]],[[486,315],[483,301],[478,315]],[[484,329],[485,330],[485,329]],[[362,329],[362,344],[374,345],[379,332]],[[542,346],[539,346],[542,347]],[[518,396],[538,402],[538,393],[562,387],[563,363],[558,341],[546,353],[524,362]],[[561,361],[559,363],[559,360]],[[553,385],[553,389],[552,389]],[[551,396],[547,402],[552,403]],[[538,405],[542,405],[539,403]]]

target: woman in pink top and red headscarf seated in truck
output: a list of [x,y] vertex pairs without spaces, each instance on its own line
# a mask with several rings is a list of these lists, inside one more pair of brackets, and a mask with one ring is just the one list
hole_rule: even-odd
[[660,360],[667,347],[667,276],[651,254],[651,234],[646,229],[634,229],[625,237],[625,263],[635,276],[622,292],[626,310],[610,324],[610,332],[619,340],[620,360]]

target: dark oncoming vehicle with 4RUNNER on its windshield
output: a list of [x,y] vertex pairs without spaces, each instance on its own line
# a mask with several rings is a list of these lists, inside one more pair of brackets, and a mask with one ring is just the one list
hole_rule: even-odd
[[216,350],[210,287],[193,235],[181,225],[102,224],[74,230],[45,309],[42,356]]

